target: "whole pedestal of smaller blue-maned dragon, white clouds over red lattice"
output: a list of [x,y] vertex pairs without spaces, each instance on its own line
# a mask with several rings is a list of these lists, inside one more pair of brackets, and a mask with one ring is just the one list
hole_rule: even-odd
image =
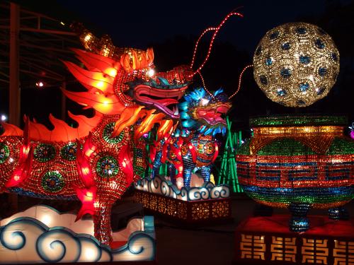
[[229,186],[205,182],[199,187],[178,189],[164,177],[135,183],[135,201],[145,210],[178,221],[178,225],[225,223],[232,220]]

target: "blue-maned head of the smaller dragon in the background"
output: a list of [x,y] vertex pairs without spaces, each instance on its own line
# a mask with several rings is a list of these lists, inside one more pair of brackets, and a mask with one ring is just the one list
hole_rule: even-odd
[[178,107],[183,129],[197,129],[205,135],[224,134],[226,122],[222,115],[232,106],[222,89],[208,94],[204,88],[196,88],[184,96]]

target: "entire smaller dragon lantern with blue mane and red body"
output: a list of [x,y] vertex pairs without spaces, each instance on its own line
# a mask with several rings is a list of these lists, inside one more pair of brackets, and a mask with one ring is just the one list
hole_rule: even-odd
[[[171,136],[155,142],[150,153],[153,160],[152,177],[161,163],[169,163],[171,180],[183,177],[183,186],[190,187],[193,170],[198,168],[205,182],[210,181],[211,165],[217,158],[215,135],[224,134],[226,123],[221,117],[231,104],[222,90],[207,94],[204,88],[196,88],[184,95],[178,104],[181,122]],[[177,170],[177,175],[176,175]]]

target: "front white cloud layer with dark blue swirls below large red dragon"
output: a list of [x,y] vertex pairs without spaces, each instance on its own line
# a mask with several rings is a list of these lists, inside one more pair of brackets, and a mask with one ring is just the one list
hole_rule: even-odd
[[[55,209],[41,207],[46,207],[53,218],[60,218]],[[121,247],[111,249],[89,234],[63,226],[50,228],[33,217],[13,218],[0,226],[0,264],[152,261],[156,253],[154,218],[144,216],[139,220],[143,229],[132,232]]]

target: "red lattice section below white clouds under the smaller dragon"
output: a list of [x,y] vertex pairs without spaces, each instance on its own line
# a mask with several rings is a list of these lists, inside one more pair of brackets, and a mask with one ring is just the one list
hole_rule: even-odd
[[200,224],[231,220],[231,199],[182,201],[135,190],[135,201],[144,209],[184,224]]

